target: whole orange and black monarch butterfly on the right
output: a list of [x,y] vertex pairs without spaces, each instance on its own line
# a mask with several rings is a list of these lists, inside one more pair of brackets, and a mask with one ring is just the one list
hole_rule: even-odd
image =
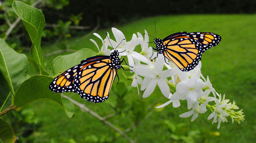
[[202,54],[220,43],[221,37],[210,32],[178,32],[165,39],[154,39],[158,54],[173,62],[181,71],[194,69],[202,58]]

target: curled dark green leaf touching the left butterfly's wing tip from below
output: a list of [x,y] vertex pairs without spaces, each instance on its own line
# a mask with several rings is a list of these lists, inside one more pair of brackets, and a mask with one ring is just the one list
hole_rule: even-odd
[[14,105],[19,107],[17,110],[37,100],[50,100],[58,103],[69,118],[74,117],[74,104],[70,100],[61,97],[59,93],[49,90],[52,80],[52,77],[45,75],[31,76],[25,80],[15,93]]

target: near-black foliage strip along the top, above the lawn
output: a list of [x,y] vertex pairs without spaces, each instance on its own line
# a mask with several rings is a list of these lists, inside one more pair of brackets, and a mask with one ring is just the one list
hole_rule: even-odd
[[[72,0],[62,10],[44,10],[46,21],[56,23],[58,19],[68,20],[70,14],[83,13],[80,25],[96,25],[100,17],[101,27],[115,23],[126,23],[140,17],[159,14],[233,14],[255,13],[256,1],[253,0]],[[54,12],[53,12],[54,11]],[[65,20],[64,20],[65,21]]]

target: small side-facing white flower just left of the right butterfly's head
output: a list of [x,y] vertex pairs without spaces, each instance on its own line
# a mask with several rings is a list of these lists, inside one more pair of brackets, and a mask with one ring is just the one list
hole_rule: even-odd
[[[142,34],[137,32],[138,34],[138,37],[139,38],[143,38]],[[148,59],[152,56],[152,53],[153,53],[153,56],[152,57],[156,57],[156,54],[157,52],[153,52],[153,48],[150,46],[148,47],[148,35],[147,35],[147,31],[145,30],[145,38],[144,38],[144,41],[141,43],[141,54],[146,56]]]

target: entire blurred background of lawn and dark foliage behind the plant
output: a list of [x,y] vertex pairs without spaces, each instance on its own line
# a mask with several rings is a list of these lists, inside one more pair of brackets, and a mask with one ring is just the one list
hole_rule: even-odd
[[[31,5],[35,1],[24,2]],[[236,122],[231,124],[228,118],[229,122],[221,123],[220,129],[217,129],[217,124],[212,125],[212,121],[207,120],[209,112],[199,115],[191,122],[191,117],[178,117],[188,111],[185,101],[182,101],[178,108],[169,104],[164,108],[155,109],[156,105],[167,101],[159,88],[157,87],[150,97],[143,99],[142,93],[137,95],[137,88],[131,87],[132,81],[125,80],[120,71],[121,82],[116,85],[117,80],[114,81],[110,98],[103,103],[87,102],[77,94],[67,95],[102,117],[114,114],[115,116],[107,121],[118,129],[126,130],[135,125],[135,128],[126,134],[136,142],[255,142],[256,14],[248,14],[255,13],[255,2],[207,3],[199,0],[168,1],[169,3],[163,1],[161,4],[148,1],[135,4],[136,2],[127,6],[118,1],[88,1],[85,4],[68,0],[41,1],[35,7],[45,14],[48,25],[42,39],[46,69],[59,55],[70,54],[82,48],[97,52],[96,46],[89,39],[95,40],[100,47],[101,41],[92,35],[92,32],[98,33],[104,39],[105,32],[109,32],[110,38],[114,39],[111,27],[121,30],[127,41],[131,40],[133,33],[143,34],[144,29],[154,36],[154,21],[157,37],[161,39],[180,31],[214,32],[222,37],[222,41],[204,53],[201,71],[205,77],[209,76],[218,93],[225,94],[226,99],[235,100],[240,109],[243,109],[244,122],[240,125]],[[1,38],[5,37],[3,33],[8,29],[5,15],[8,15],[11,22],[16,19],[10,9],[10,3],[11,1],[7,0],[1,4]],[[170,9],[167,9],[168,6]],[[31,42],[21,22],[6,41],[16,51],[28,56],[28,74],[38,74],[39,69],[30,57]],[[152,41],[153,38],[149,38],[149,42]],[[140,46],[136,48],[140,51]],[[56,103],[36,101],[27,105],[21,112],[13,111],[4,115],[3,119],[14,128],[19,137],[17,143],[128,142],[114,129],[88,112],[82,112],[76,105],[75,113],[75,117],[69,119]]]

